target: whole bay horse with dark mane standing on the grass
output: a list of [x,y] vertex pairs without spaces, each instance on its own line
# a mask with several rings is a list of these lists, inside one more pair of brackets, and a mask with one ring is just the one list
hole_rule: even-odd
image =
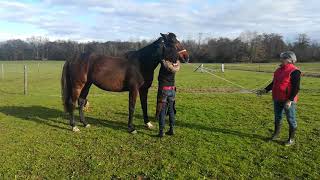
[[[175,47],[182,62],[189,60],[187,51],[173,33],[161,34],[155,42],[137,50],[131,51],[125,57],[110,57],[85,53],[66,61],[61,76],[61,94],[64,109],[70,114],[70,125],[77,132],[74,110],[78,101],[80,122],[85,127],[90,125],[84,117],[83,108],[92,84],[100,89],[112,92],[129,91],[128,132],[136,133],[133,126],[133,113],[137,95],[140,95],[144,122],[147,128],[152,128],[147,113],[148,89],[153,81],[154,70],[166,57],[166,47]],[[170,54],[170,53],[169,53]]]

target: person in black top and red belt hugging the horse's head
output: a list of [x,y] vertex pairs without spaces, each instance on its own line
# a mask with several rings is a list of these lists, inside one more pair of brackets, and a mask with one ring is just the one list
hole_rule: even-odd
[[157,119],[159,120],[159,137],[164,136],[164,126],[166,115],[169,115],[170,129],[166,132],[166,135],[174,135],[174,123],[175,123],[175,74],[180,69],[180,62],[177,54],[172,52],[173,47],[168,47],[165,51],[167,57],[171,60],[166,59],[161,61],[161,68],[158,76],[158,95],[157,95]]

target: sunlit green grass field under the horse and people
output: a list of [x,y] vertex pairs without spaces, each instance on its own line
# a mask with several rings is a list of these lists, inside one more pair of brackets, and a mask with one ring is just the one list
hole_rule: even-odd
[[[0,179],[320,178],[320,78],[303,77],[296,144],[284,147],[285,119],[281,140],[266,141],[273,130],[270,94],[243,93],[212,75],[193,72],[190,64],[177,75],[176,135],[160,140],[157,129],[144,129],[139,100],[138,134],[131,135],[126,131],[128,93],[96,87],[86,113],[92,126],[73,133],[60,99],[62,62],[40,62],[39,69],[36,61],[2,63]],[[26,96],[24,64],[29,71]],[[319,63],[299,65],[320,69]],[[229,69],[216,74],[248,89],[261,88],[272,78],[271,73]],[[154,124],[156,85],[148,102]]]

